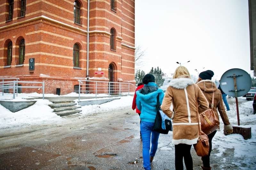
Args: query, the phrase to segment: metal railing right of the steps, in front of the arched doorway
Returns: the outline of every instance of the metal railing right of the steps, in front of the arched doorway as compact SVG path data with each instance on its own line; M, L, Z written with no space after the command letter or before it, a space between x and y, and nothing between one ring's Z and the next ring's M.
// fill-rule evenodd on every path
M80 100L80 94L95 94L95 98L99 94L119 95L126 96L130 95L130 88L134 88L132 83L125 82L112 82L112 81L91 81L91 80L78 80L78 99ZM85 83L83 83L85 82ZM135 91L135 89L134 89Z

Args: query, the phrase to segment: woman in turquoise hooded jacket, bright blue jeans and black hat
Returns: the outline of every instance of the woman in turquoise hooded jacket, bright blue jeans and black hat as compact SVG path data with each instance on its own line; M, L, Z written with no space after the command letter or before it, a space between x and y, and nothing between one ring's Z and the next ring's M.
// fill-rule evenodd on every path
M156 154L159 133L153 131L154 122L156 119L156 101L159 94L159 102L162 104L164 92L158 89L155 83L155 77L152 74L146 74L142 82L144 87L136 92L136 105L141 111L140 113L140 132L142 136L142 155L144 169L151 169L150 163ZM151 135L152 133L152 135ZM151 137L151 150L150 149Z

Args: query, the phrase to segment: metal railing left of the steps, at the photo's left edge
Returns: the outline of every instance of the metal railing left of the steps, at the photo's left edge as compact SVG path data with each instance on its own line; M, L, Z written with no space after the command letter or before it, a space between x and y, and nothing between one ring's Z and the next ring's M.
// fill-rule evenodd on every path
M4 90L13 89L13 99L15 99L15 91L17 91L18 96L18 88L42 88L43 89L43 99L44 99L44 81L4 81L5 84L0 84L0 90L3 92L4 96ZM18 86L18 83L32 83L32 84L42 84L42 86Z

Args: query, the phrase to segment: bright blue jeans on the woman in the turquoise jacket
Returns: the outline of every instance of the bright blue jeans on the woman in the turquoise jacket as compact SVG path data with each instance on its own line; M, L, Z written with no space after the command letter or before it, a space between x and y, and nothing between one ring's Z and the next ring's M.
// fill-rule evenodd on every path
M150 158L156 154L159 133L153 131L154 123L141 121L140 132L142 136L142 156L144 169L151 169ZM150 149L150 137L151 137L151 150Z

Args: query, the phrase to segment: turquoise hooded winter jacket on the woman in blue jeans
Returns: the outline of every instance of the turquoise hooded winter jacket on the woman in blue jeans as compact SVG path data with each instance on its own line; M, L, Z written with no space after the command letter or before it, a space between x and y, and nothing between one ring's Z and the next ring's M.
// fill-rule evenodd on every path
M136 105L141 111L140 119L146 122L155 122L156 119L156 101L159 94L159 103L162 104L164 92L158 89L156 83L149 82L144 84L144 87L136 92Z

